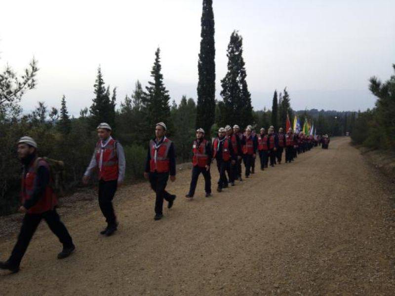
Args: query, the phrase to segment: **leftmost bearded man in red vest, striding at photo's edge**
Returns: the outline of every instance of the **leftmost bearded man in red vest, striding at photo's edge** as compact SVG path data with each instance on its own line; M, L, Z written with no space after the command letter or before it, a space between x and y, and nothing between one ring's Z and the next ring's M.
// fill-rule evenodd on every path
M19 271L19 265L42 219L63 244L58 259L69 257L76 247L66 226L60 221L56 212L56 194L51 187L52 176L49 164L37 155L37 143L30 137L18 141L18 157L23 165L22 205L19 212L24 213L22 227L11 256L0 262L0 269L12 273Z

